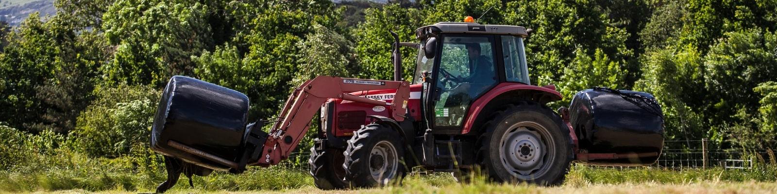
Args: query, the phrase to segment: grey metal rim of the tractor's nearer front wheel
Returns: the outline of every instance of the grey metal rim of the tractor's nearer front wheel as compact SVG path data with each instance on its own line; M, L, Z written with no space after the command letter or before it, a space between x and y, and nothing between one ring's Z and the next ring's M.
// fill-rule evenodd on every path
M391 142L382 140L372 147L370 174L378 183L385 185L394 178L398 164L396 148Z

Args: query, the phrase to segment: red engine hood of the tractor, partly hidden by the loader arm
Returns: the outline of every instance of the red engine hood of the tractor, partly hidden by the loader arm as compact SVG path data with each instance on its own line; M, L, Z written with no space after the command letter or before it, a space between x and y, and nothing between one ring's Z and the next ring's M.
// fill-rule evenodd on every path
M414 120L421 120L421 88L420 84L410 85L410 96L407 102L407 113ZM368 99L378 99L385 102L393 102L395 89L367 90L361 92L351 92L351 95L366 97ZM366 103L351 102L345 99L329 99L334 102L333 116L328 120L328 125L332 126L333 134L336 137L350 137L354 131L359 130L361 125L372 123L368 116L386 116L391 118L392 109L388 106L376 106ZM324 104L323 106L326 106ZM382 108L381 108L382 107ZM326 119L326 118L324 118Z

